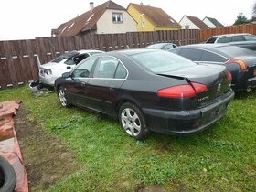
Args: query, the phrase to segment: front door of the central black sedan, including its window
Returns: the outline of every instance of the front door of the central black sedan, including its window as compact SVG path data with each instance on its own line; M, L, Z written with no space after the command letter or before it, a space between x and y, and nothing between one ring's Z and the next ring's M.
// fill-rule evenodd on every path
M73 69L70 80L66 86L66 92L73 104L88 107L88 81L91 77L92 67L97 58L85 59L80 65Z

